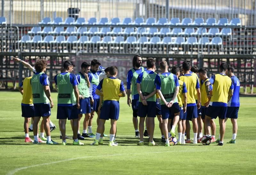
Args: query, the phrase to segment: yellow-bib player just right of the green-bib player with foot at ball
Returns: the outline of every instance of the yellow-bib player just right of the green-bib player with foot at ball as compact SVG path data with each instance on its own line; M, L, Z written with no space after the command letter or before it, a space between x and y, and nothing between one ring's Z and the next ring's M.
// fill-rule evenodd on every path
M182 67L181 67L182 68ZM174 66L172 68L172 73L176 75L177 78L180 76L180 68ZM186 84L179 80L180 88L177 95L178 103L180 106L180 120L178 122L178 144L185 144L185 131L186 131L186 113L187 111L187 87ZM173 115L173 114L172 114ZM174 116L174 115L173 115Z

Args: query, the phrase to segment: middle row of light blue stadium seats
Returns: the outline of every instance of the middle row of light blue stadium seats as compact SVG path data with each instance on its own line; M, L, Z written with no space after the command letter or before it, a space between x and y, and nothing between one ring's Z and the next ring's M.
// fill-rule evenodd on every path
M64 30L64 27L55 27L53 30L53 27L47 26L44 27L43 30L40 26L33 27L31 31L28 31L28 34L30 35L100 35L100 36L116 36L116 35L161 35L161 36L177 36L177 35L186 35L186 36L193 36L193 35L204 35L204 36L229 36L232 35L231 28L222 28L221 31L219 28L210 28L208 31L206 28L199 27L198 30L195 30L194 28L185 28L183 31L182 28L168 28L164 27L161 28L160 31L158 31L157 28L146 28L146 27L139 27L136 31L134 27L126 27L123 31L122 27L114 27L112 30L110 27L102 27L99 29L99 27L90 27L89 30L86 26L80 26L77 31L76 27L69 26Z

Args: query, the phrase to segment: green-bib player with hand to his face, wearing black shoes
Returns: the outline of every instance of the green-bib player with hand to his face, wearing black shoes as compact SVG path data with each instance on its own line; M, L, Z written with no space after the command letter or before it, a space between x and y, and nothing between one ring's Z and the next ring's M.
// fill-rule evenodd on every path
M78 114L78 130L77 130L77 138L79 140L84 140L84 137L92 137L87 133L87 127L89 124L89 120L91 118L91 104L90 104L90 80L88 77L88 72L91 69L91 64L88 62L83 62L81 64L81 71L76 74L78 91L79 91L79 103L80 109ZM92 75L91 75L92 78ZM85 115L84 123L83 123L83 134L81 136L79 128L80 128L80 120Z

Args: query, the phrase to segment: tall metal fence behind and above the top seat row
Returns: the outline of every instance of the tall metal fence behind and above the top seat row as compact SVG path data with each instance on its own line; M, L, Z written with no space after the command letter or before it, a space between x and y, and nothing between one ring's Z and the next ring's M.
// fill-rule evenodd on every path
M1 0L1 16L9 24L38 24L44 17L241 18L256 25L255 0ZM168 8L166 8L168 7ZM69 9L69 10L68 10Z

